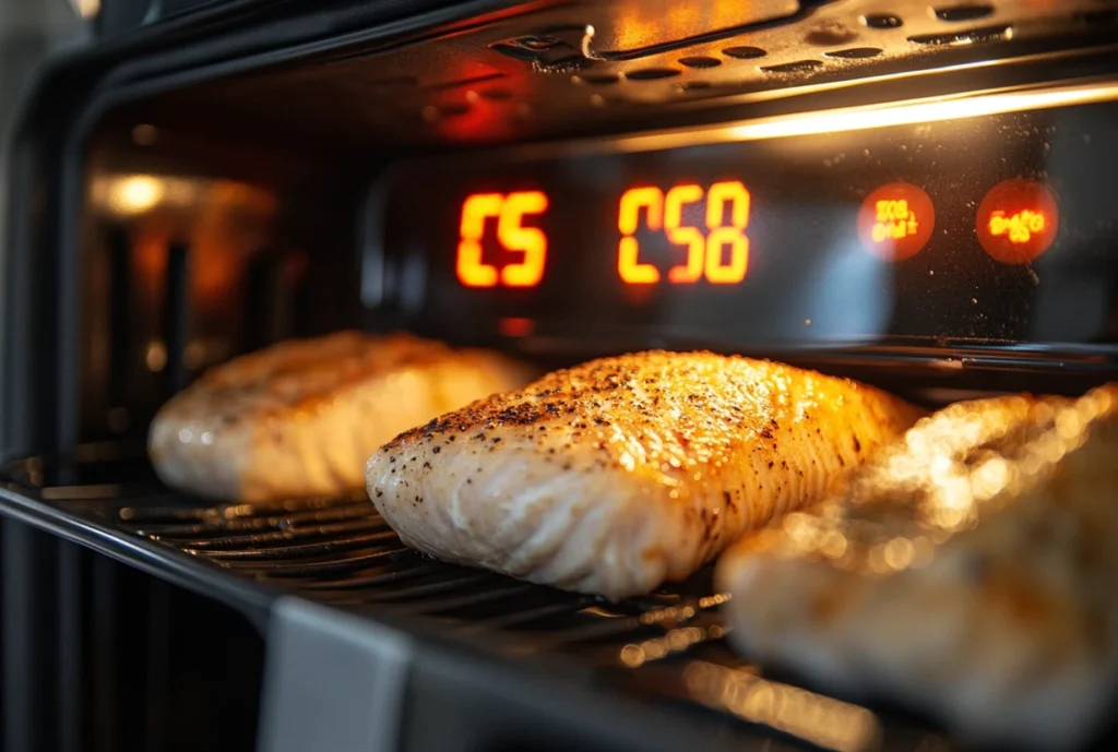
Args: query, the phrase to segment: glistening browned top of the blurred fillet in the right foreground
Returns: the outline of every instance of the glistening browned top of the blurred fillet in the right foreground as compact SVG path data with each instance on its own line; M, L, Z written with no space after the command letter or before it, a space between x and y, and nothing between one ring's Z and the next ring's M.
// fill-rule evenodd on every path
M949 406L880 450L841 494L787 515L749 546L879 577L927 567L937 546L1052 478L1099 421L1114 419L1116 402L1118 389L1103 387L1078 400Z

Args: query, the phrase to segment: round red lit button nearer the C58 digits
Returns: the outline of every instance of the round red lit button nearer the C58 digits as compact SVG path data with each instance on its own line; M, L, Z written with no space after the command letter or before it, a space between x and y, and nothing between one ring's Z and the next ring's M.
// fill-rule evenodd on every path
M889 183L862 201L858 237L870 251L889 261L916 256L936 228L931 199L911 183Z

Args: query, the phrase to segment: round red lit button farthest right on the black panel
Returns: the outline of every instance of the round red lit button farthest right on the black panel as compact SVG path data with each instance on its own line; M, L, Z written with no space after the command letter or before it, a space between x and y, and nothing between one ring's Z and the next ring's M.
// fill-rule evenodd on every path
M975 219L978 242L1003 264L1027 264L1043 254L1059 226L1052 192L1043 183L1021 178L989 189Z

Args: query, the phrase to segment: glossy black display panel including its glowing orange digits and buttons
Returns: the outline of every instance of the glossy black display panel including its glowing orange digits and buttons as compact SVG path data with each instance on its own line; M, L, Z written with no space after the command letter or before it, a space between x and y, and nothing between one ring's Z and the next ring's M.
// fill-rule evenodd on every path
M401 165L428 326L655 344L1115 340L1114 103ZM871 123L872 124L872 123ZM736 135L742 135L736 140Z

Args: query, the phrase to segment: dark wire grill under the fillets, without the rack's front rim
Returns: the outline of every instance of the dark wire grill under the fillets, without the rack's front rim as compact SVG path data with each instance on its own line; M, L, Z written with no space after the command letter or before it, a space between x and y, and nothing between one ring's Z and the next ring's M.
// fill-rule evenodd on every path
M225 574L372 619L423 619L508 658L698 714L726 733L851 752L954 749L922 721L762 677L724 639L727 597L713 591L710 568L610 602L419 554L362 497L211 504L169 493L150 468L115 451L94 455L66 484L51 482L46 463L12 476L125 542L143 539L179 562L196 560L203 579Z

